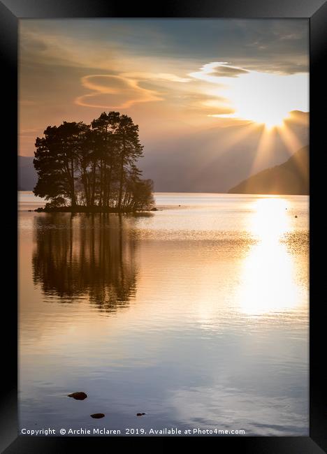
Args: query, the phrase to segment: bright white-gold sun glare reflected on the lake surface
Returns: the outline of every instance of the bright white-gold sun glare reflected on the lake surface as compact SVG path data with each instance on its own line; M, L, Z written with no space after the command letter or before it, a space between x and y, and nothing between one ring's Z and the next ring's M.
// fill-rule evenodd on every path
M245 258L238 295L240 312L249 316L290 311L306 300L293 256L283 242L291 228L287 208L282 198L254 202L249 230L257 243Z

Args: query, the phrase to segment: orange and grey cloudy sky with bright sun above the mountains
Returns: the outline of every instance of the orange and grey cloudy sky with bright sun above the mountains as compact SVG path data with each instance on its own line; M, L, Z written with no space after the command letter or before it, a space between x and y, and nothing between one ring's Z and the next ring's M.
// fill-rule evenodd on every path
M48 125L130 115L146 153L167 137L308 112L307 20L20 20L22 156Z

